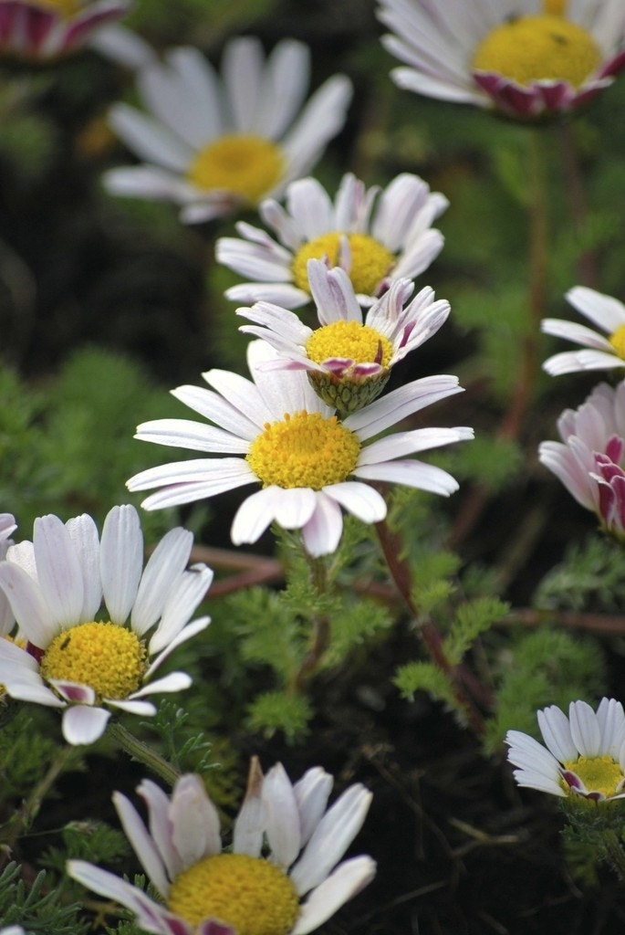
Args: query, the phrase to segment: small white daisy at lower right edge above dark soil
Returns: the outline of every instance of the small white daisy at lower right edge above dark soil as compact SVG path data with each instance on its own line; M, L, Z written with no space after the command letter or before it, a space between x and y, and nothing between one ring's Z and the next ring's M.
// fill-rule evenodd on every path
M625 714L620 701L602 698L594 712L572 701L569 716L556 705L537 712L547 749L519 730L505 742L517 783L552 796L625 798Z

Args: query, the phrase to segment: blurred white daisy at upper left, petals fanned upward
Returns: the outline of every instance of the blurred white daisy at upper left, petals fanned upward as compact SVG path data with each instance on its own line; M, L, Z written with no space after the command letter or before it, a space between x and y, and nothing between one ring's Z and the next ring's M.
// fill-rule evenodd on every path
M169 51L139 71L143 113L111 108L110 122L143 165L109 171L113 194L173 201L193 223L258 205L305 175L342 128L351 98L343 75L305 108L310 52L284 39L263 62L258 39L231 40L222 79L196 49Z

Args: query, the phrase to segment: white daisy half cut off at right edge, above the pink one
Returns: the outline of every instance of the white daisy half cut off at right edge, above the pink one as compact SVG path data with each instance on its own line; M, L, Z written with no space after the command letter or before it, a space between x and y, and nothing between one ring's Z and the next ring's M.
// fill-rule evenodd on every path
M549 357L543 367L552 377L579 370L607 370L625 367L625 305L611 295L603 295L587 286L575 286L566 298L592 324L606 334L599 334L584 324L546 318L542 329L547 335L566 338L584 346L584 351L565 351Z

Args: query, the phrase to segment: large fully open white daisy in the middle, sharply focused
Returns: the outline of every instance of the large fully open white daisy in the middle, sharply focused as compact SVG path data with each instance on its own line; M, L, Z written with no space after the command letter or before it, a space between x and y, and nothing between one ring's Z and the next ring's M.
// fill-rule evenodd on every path
M330 554L343 531L341 508L363 523L386 516L383 497L366 481L404 483L448 496L458 489L447 471L405 455L473 438L471 428L418 428L371 441L438 399L461 393L457 377L425 377L341 420L318 396L304 372L267 371L276 352L252 341L253 382L224 370L203 374L212 390L181 386L174 396L215 423L160 419L138 426L136 438L191 448L211 457L149 468L128 482L131 490L162 489L143 501L156 510L215 496L249 483L262 490L239 507L235 545L255 542L275 520L301 529L311 555Z

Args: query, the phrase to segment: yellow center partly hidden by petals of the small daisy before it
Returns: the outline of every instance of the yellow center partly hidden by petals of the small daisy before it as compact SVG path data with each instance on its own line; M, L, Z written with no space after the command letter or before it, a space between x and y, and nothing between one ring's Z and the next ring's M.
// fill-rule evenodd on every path
M362 295L374 295L380 280L395 265L395 255L368 234L347 234L351 248L351 269L349 278L354 292ZM309 240L295 254L291 264L293 281L300 289L310 292L308 286L308 260L320 260L327 256L330 266L338 265L338 252L341 242L340 232L323 234L315 240Z

